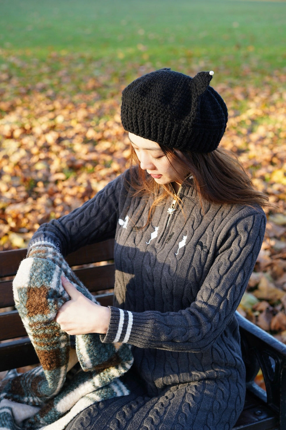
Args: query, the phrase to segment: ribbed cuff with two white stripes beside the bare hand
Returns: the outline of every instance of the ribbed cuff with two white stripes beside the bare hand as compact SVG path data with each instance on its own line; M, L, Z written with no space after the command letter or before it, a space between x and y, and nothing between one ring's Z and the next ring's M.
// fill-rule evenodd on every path
M109 306L109 309L110 322L106 335L100 335L101 341L104 343L128 342L133 325L132 312L113 306Z

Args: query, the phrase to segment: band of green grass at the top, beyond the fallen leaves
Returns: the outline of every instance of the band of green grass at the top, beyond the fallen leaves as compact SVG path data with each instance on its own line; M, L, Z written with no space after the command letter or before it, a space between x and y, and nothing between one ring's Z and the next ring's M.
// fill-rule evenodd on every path
M147 63L214 69L229 77L269 74L285 67L285 6L238 0L0 0L2 63L13 63L11 55L45 61L57 52L75 56L77 64L112 62L117 70ZM21 74L21 64L13 67Z

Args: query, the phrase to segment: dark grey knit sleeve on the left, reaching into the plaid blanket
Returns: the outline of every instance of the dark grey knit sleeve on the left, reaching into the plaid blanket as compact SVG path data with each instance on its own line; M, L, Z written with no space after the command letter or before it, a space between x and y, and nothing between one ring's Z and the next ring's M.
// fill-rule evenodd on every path
M35 244L49 243L67 255L81 246L114 237L123 194L126 187L124 175L120 175L69 215L42 224L28 249Z

